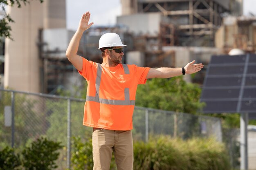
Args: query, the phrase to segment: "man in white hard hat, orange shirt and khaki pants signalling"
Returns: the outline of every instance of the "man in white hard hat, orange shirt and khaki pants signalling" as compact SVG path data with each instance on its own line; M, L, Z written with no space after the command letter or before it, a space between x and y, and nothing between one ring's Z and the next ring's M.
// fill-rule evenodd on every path
M192 74L200 71L203 65L193 61L184 68L155 69L121 64L126 45L116 33L106 33L99 40L103 62L88 61L76 53L83 32L93 24L88 24L89 20L90 12L84 13L66 56L88 82L83 125L93 127L93 169L109 170L114 152L117 169L132 170L131 129L137 85L145 84L150 78Z

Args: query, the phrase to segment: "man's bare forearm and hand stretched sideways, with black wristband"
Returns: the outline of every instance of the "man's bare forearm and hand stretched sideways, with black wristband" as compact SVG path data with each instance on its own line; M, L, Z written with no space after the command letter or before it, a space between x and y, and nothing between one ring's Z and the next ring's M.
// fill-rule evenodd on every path
M186 74L193 74L200 71L203 68L203 64L194 64L195 60L186 64L185 72ZM150 68L147 79L151 78L170 78L175 77L177 75L182 75L182 68L168 68L168 67L161 67L161 68Z

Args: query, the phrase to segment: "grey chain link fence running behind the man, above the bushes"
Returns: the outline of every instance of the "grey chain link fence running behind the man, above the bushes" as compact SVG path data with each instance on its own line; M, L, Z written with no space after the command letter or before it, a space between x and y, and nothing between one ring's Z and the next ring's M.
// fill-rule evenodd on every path
M0 149L22 148L39 137L61 141L58 169L70 167L72 137L90 139L92 128L82 125L85 100L55 95L0 90ZM215 137L222 141L220 119L135 107L133 139L153 135Z

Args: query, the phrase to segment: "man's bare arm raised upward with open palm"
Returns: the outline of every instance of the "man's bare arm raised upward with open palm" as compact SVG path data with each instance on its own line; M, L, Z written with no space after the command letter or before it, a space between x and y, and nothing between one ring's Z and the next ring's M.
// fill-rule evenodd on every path
M86 12L82 15L82 18L79 22L78 29L74 34L73 38L70 41L70 44L67 47L66 56L67 59L74 65L78 71L82 71L83 68L83 59L81 56L77 55L79 41L83 35L83 31L87 30L92 26L93 22L88 24L90 20L90 12Z

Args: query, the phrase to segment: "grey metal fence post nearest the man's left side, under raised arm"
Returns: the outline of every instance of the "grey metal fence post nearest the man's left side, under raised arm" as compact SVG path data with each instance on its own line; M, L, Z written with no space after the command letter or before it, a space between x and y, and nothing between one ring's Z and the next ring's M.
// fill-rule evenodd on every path
M71 109L70 98L67 99L67 168L70 170L70 136L71 136Z

